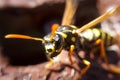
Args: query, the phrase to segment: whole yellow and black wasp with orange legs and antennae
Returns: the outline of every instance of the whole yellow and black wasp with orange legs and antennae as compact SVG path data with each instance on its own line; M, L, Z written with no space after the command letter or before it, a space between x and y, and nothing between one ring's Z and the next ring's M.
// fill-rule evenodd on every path
M92 28L111 15L119 12L120 6L109 10L81 28L77 28L76 26L71 25L73 16L77 9L77 3L78 2L76 0L67 0L61 26L54 24L52 26L51 33L44 36L43 38L36 38L20 34L8 34L5 36L5 38L20 38L41 41L50 64L53 62L52 58L60 54L63 49L68 50L68 58L72 64L73 61L71 56L73 52L78 55L80 50L91 52L93 49L98 47L101 51L101 57L110 68L110 71L120 74L120 69L111 68L109 66L109 62L105 53L105 49L113 45L116 42L116 39L100 29ZM80 74L83 75L89 69L91 63L87 59L83 59L79 56L78 58L86 65Z

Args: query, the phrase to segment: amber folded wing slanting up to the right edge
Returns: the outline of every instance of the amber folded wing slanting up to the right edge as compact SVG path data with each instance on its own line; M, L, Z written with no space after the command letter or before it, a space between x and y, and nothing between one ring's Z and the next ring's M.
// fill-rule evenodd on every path
M100 17L94 19L93 21L89 22L88 24L82 26L81 28L77 29L77 33L83 32L86 29L89 29L93 26L95 26L96 24L102 22L103 20L107 19L108 17L112 16L113 14L116 14L120 12L120 6L113 8L109 11L107 11L106 13L104 13L103 15L101 15Z

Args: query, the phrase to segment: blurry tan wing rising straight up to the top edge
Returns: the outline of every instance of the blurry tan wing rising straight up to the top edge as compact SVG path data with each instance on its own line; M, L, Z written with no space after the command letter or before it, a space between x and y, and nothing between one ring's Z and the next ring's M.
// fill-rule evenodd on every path
M62 25L70 25L73 22L74 14L78 7L79 0L66 0Z

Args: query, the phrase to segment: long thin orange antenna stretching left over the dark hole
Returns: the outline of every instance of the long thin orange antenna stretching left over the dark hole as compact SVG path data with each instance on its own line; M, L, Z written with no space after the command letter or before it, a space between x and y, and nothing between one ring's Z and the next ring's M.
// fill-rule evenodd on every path
M41 38L34 38L34 37L31 37L31 36L20 35L20 34L8 34L8 35L5 36L5 38L31 39L31 40L38 40L38 41L44 42L44 40L41 39Z

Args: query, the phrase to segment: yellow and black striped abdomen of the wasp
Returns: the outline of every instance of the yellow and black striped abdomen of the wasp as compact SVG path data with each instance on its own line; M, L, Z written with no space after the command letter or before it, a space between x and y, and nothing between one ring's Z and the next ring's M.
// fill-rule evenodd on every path
M81 36L81 43L86 44L86 46L92 45L98 40L101 39L104 41L104 46L108 47L111 46L114 43L113 37L110 36L109 34L103 32L100 29L93 28L93 29L88 29L85 32L80 34Z

